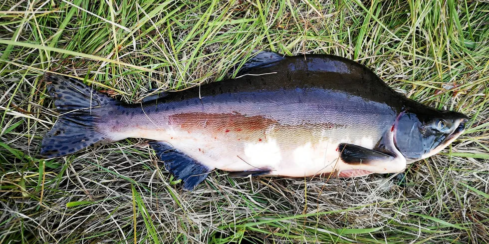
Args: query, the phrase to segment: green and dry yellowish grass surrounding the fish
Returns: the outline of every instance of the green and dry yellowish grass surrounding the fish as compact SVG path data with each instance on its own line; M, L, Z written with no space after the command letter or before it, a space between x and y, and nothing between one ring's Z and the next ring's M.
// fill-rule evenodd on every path
M0 243L489 243L487 2L90 2L0 3ZM135 103L220 80L253 48L355 59L470 128L406 187L217 172L189 193L137 139L39 160L44 71Z

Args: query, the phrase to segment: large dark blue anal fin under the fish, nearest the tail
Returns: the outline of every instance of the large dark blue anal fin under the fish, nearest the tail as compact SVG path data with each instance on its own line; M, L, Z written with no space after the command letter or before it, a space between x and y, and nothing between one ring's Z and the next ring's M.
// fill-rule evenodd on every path
M156 151L158 158L164 162L166 170L171 172L177 180L184 182L185 190L194 190L213 170L165 142L150 142L149 144Z

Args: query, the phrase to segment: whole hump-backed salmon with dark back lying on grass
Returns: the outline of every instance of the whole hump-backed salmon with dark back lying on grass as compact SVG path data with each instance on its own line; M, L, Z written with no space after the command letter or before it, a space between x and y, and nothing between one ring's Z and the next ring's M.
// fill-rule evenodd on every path
M145 138L165 169L192 191L216 169L230 177L403 172L450 145L469 120L405 97L347 58L253 55L235 69L236 78L135 104L47 72L47 91L60 115L40 155Z

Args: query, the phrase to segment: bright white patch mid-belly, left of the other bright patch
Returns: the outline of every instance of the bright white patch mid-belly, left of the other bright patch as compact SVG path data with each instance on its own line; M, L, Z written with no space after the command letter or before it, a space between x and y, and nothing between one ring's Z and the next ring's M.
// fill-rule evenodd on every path
M257 168L276 168L282 161L280 147L275 139L245 144L246 162Z

